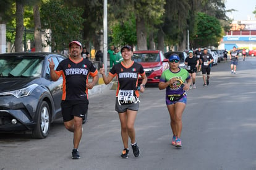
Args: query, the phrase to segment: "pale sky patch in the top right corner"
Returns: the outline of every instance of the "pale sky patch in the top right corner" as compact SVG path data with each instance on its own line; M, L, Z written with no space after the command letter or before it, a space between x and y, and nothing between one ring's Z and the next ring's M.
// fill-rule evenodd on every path
M247 15L250 15L252 20L256 20L255 15L252 14L255 11L255 0L225 0L226 10L236 9L234 12L227 12L226 15L234 20L247 20Z

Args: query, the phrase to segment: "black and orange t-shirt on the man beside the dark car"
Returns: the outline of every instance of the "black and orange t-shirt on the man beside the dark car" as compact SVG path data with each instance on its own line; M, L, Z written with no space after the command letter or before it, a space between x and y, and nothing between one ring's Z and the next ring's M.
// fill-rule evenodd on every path
M74 62L67 58L59 63L56 74L63 77L62 100L85 100L88 99L88 74L94 77L98 70L88 59Z

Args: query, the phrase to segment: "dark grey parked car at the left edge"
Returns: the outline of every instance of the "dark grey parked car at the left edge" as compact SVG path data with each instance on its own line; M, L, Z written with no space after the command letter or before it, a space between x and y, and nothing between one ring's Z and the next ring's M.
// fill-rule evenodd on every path
M33 138L45 138L51 122L62 117L62 77L51 80L49 58L57 67L66 57L54 53L0 54L0 132L29 131Z

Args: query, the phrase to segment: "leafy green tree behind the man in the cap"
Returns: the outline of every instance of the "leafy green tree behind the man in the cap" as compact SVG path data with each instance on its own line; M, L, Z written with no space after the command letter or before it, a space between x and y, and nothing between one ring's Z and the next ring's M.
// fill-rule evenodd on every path
M64 6L63 1L48 1L42 4L41 24L43 29L51 30L51 34L45 33L45 37L46 44L51 46L53 51L67 48L71 40L82 41L82 13L83 9Z

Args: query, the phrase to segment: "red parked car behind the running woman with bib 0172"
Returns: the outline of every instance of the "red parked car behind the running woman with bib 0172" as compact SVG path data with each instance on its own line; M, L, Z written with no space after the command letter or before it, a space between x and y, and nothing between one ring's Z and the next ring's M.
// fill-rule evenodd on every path
M168 62L163 62L166 58L160 50L134 51L132 59L143 66L148 78L147 83L159 83L161 74L169 68Z

